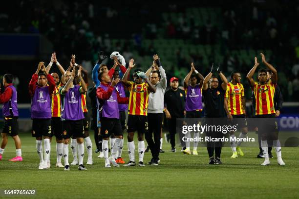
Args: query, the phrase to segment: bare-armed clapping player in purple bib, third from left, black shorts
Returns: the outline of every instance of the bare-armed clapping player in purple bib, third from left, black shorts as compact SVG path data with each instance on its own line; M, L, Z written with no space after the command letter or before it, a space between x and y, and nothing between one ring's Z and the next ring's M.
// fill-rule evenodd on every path
M82 95L87 91L87 86L85 81L81 76L80 67L78 70L78 78L81 81L80 85L74 85L73 80L76 76L75 67L73 67L72 72L65 71L64 79L66 81L65 86L61 87L59 92L63 97L62 103L62 116L63 121L63 138L64 138L64 171L69 171L70 166L68 163L68 142L70 137L74 136L78 143L78 170L87 170L83 165L84 158L84 126L83 119L84 114L82 110Z

